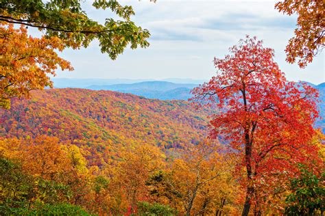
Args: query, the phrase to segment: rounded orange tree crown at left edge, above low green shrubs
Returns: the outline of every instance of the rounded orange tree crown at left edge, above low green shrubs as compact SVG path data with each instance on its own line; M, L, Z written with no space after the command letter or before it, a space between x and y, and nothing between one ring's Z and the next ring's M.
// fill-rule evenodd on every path
M35 139L3 139L1 156L21 163L23 171L46 180L69 180L71 160L56 137L41 135Z

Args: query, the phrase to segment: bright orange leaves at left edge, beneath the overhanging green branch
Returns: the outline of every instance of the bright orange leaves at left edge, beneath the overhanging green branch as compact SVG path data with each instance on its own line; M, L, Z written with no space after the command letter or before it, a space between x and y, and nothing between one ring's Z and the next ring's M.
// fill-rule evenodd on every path
M58 57L55 50L64 46L58 38L33 38L21 26L0 22L0 108L10 108L10 98L29 97L30 90L53 87L48 75L72 70L70 63Z

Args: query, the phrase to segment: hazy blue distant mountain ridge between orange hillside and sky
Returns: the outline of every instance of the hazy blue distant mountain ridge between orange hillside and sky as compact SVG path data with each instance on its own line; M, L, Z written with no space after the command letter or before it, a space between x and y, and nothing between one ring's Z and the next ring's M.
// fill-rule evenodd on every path
M91 90L111 90L122 93L130 93L145 98L160 100L187 100L191 98L190 91L198 84L171 83L167 81L145 81L132 84L117 85L92 85L87 87Z

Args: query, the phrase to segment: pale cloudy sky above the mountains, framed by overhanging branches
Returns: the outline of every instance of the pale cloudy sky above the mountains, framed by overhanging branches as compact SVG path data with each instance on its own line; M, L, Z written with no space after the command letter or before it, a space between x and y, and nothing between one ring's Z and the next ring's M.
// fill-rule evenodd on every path
M61 54L75 70L58 71L56 78L73 79L205 79L215 75L213 58L245 35L257 36L275 51L275 61L290 81L325 82L324 52L303 70L285 62L285 46L296 28L296 16L274 9L276 1L119 1L132 5L132 21L149 29L147 49L126 49L116 60L102 54L96 41L87 49L66 49ZM112 12L83 7L88 16L104 22Z

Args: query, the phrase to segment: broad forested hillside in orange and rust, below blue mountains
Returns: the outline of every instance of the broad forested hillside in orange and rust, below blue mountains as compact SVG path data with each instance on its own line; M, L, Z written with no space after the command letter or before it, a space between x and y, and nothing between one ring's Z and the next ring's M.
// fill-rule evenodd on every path
M33 92L31 100L15 98L10 110L0 110L0 137L53 135L81 146L98 165L118 157L121 148L144 142L166 152L196 144L206 137L207 115L207 110L195 111L185 101L110 91L45 90Z

